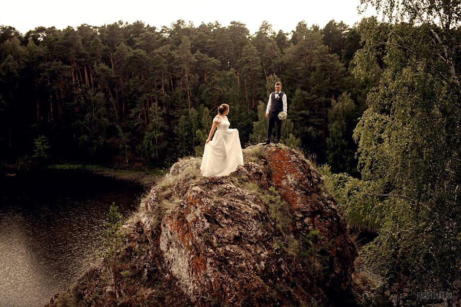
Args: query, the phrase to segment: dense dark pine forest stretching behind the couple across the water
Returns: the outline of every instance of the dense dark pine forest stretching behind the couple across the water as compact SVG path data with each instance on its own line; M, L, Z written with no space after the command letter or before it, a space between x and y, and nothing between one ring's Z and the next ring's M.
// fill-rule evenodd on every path
M267 119L259 118L258 103L282 81L284 143L325 161L331 99L347 87L361 106L354 117L363 112L364 84L344 78L340 62L358 48L353 30L334 21L325 29L300 23L289 41L266 21L253 36L235 21L194 27L178 20L162 29L118 21L37 27L24 36L3 26L0 158L32 155L33 139L44 135L54 159L103 164L119 156L127 164L168 166L202 155L209 127L201 105L213 114L221 103L230 105L242 144L259 143L266 128L253 129L253 122ZM306 93L301 103L298 88Z

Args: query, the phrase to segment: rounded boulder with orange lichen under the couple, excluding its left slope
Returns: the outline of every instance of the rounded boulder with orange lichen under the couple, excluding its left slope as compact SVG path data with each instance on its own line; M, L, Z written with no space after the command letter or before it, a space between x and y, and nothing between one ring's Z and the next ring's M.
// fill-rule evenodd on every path
M245 166L221 178L197 176L199 159L178 162L166 179L172 184L154 187L146 199L144 206L157 215L163 202L172 204L162 218L159 248L179 287L205 305L210 298L237 305L296 303L314 284L318 300L344 299L356 249L316 170L291 149L252 146L244 157ZM264 198L270 187L285 206L279 208L283 216L274 215ZM312 272L312 257L302 256L303 239L314 228L325 237L323 245L331 242L327 263L319 264L329 267L323 272Z

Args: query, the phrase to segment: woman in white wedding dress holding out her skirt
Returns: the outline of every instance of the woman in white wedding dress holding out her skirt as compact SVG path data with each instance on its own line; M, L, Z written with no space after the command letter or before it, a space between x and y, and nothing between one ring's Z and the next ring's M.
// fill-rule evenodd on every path
M218 114L213 119L210 135L205 144L202 165L200 169L203 176L227 176L243 165L242 146L237 129L229 129L230 122L227 119L229 105L223 103L218 107ZM214 129L213 141L210 141Z

